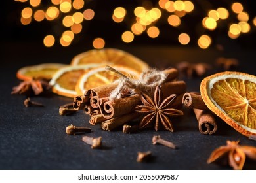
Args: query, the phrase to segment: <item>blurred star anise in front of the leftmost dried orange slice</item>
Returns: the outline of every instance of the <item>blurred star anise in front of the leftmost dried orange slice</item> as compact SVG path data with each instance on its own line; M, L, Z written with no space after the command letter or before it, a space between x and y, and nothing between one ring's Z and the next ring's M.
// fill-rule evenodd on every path
M11 94L39 95L49 89L51 89L51 85L44 80L25 80L18 86L14 86Z

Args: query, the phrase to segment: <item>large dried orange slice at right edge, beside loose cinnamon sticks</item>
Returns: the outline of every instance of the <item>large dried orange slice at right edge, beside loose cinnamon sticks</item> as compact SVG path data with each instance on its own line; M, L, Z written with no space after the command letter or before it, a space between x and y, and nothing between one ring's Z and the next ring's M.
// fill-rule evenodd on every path
M200 92L207 107L245 136L256 135L256 76L217 73L204 78Z

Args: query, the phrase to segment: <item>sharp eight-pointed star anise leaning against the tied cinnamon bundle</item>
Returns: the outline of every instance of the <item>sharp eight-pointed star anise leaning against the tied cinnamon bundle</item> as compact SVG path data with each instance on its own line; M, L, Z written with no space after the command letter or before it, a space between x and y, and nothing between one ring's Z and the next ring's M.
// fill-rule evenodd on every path
M173 124L169 117L181 116L183 112L175 108L171 108L171 105L176 99L176 95L172 94L169 97L162 99L162 92L160 86L156 87L154 92L154 99L151 99L148 95L142 94L140 97L143 105L135 107L135 111L144 115L144 118L140 121L139 128L143 129L154 125L156 131L161 127L173 132Z

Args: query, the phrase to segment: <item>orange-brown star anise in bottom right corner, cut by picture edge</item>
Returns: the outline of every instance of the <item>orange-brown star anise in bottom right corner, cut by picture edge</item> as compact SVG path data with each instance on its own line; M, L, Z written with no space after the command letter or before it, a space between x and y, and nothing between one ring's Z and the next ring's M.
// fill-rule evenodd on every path
M228 156L228 164L235 170L242 170L246 156L256 160L256 147L240 146L239 141L226 141L226 146L220 146L213 150L207 163L212 163L217 159Z

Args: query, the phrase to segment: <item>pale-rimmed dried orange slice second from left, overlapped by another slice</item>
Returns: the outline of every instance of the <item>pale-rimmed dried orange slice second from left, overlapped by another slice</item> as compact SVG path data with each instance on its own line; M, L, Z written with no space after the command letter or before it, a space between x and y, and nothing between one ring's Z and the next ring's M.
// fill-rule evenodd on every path
M52 90L58 95L66 97L76 97L77 92L75 91L75 85L79 80L80 76L84 73L98 67L97 64L87 65L70 65L59 69L50 80L49 84L53 86Z

